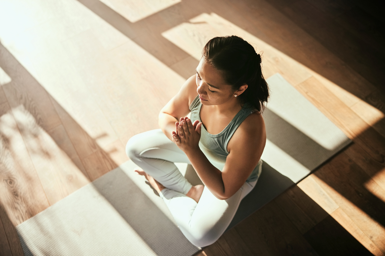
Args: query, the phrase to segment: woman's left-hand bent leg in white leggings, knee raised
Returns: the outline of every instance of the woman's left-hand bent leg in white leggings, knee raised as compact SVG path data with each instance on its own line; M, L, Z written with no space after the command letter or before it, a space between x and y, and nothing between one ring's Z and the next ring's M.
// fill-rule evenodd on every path
M174 162L191 164L177 145L161 129L134 135L126 145L128 157L164 187L186 195L192 185Z

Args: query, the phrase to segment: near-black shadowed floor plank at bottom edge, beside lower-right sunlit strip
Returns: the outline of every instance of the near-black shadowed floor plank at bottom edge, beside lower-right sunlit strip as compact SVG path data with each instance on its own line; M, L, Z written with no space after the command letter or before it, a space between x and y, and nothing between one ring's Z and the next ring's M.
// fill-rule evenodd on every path
M320 255L373 255L331 216L303 236Z

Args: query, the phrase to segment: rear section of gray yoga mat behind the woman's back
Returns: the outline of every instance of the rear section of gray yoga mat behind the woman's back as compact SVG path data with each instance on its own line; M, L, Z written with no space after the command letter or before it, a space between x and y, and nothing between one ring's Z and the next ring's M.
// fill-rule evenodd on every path
M261 177L228 230L352 142L280 74L266 81L270 98L263 112L267 140Z

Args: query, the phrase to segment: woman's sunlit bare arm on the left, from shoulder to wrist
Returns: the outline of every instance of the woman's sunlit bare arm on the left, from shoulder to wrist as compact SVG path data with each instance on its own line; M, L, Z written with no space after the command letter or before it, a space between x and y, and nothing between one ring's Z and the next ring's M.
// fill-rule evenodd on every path
M172 140L171 134L176 128L175 122L179 122L181 117L187 116L190 112L191 102L198 95L195 78L196 75L187 79L179 92L172 97L159 113L159 127L170 140Z

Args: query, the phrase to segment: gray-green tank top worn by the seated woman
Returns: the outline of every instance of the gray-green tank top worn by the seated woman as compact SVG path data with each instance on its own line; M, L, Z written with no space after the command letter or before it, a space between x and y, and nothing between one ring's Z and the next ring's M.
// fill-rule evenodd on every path
M200 112L201 112L202 104L199 101L199 96L196 96L194 101L192 101L189 109L191 111L191 121L195 120L201 121ZM238 126L243 122L249 114L257 111L251 104L246 102L243 105L243 108L235 115L233 120L223 129L223 131L218 134L210 134L207 130L202 126L201 130L201 139L199 140L199 147L202 150L203 154L206 155L207 159L220 171L223 170L224 164L226 162L226 157L229 154L227 151L227 144L233 136L235 130ZM251 172L250 176L247 178L246 182L253 182L258 179L259 174L261 173L262 160L259 159L258 164L254 168L253 172Z

